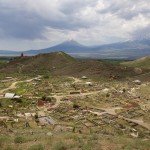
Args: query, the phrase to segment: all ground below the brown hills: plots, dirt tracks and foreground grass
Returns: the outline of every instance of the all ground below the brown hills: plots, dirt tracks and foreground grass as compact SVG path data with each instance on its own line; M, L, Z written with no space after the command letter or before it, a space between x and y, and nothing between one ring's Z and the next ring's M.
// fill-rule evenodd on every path
M0 77L2 149L149 149L150 82L9 75Z

